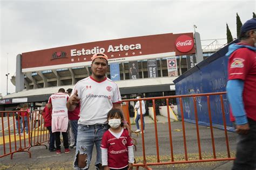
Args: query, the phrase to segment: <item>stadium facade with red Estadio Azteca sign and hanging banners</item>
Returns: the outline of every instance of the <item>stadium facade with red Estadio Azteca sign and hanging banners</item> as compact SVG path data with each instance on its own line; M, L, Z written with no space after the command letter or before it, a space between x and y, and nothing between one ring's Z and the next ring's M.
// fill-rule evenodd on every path
M106 76L116 81L123 99L137 93L145 97L175 95L173 80L203 60L196 33L165 33L24 52L17 55L16 76L11 79L16 92L0 100L0 110L19 103L35 107L60 87L72 88L91 75L91 57L97 52L109 57Z

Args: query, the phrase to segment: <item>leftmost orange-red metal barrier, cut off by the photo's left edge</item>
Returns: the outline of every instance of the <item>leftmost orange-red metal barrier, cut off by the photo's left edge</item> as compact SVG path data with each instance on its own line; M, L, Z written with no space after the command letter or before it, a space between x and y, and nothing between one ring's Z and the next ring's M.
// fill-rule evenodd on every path
M31 152L25 150L30 147L30 138L26 136L25 128L23 128L23 131L21 131L21 127L24 127L25 125L24 119L26 118L28 120L28 133L30 133L29 113L26 112L26 115L24 115L22 114L22 112L24 111L0 111L2 118L2 136L0 137L0 158L5 157L7 155L11 155L12 159L12 155L17 152L28 152L29 157L31 158ZM4 117L4 114L7 114L7 116ZM18 118L18 121L16 121L16 116ZM4 121L4 119L6 120ZM10 125L10 121L13 122L12 125ZM15 128L16 122L18 123L17 133ZM18 138L16 138L16 135L18 135ZM17 146L17 142L19 142L19 146Z

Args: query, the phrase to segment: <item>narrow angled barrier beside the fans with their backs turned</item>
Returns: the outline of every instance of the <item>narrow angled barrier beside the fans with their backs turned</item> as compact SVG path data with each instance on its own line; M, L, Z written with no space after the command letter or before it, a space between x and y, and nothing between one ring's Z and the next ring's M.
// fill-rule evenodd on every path
M43 110L35 110L31 114L31 143L29 149L33 146L45 146L47 149L47 146L43 143L49 141L49 132L44 126L42 113Z

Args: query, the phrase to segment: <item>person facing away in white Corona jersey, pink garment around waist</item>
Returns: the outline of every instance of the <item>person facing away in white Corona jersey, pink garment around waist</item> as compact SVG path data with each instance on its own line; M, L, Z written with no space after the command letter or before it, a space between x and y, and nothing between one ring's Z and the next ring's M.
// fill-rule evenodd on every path
M55 135L56 153L60 154L60 132L62 132L63 145L65 153L69 153L69 139L68 139L68 109L66 103L69 95L65 93L64 89L59 89L58 93L52 94L48 101L48 108L52 107L51 130Z

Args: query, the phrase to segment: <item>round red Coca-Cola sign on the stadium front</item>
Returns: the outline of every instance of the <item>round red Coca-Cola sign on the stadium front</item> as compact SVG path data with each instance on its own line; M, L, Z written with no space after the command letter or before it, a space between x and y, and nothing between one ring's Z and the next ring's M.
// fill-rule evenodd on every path
M182 35L176 39L175 46L180 52L188 52L193 49L194 40L190 36Z

